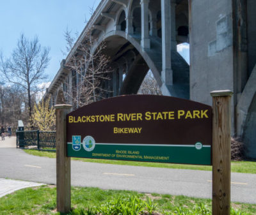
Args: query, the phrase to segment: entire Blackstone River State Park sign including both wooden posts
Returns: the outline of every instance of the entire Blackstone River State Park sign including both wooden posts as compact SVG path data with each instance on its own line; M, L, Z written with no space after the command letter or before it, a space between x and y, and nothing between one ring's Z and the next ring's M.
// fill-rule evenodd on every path
M152 95L118 96L71 113L71 105L55 105L57 211L71 209L70 157L77 157L212 165L212 215L230 215L232 92L211 96L212 107Z

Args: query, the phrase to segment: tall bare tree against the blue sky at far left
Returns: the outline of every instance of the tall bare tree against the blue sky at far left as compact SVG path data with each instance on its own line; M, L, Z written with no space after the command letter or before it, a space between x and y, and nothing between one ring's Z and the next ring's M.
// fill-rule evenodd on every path
M44 71L49 61L49 48L41 47L37 36L28 40L24 34L20 35L10 58L4 59L1 54L0 70L8 82L19 85L26 94L29 117L32 113L32 100L38 91L37 85L46 78Z

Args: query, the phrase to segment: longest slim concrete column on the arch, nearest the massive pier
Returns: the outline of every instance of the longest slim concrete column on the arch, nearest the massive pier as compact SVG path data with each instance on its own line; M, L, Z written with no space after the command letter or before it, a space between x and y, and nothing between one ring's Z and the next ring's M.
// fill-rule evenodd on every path
M173 4L172 4L173 6ZM172 43L170 38L172 38L172 20L171 20L171 1L161 0L161 17L162 17L162 61L163 70L162 78L166 85L173 84L173 72L172 72L172 62L171 62L171 49Z

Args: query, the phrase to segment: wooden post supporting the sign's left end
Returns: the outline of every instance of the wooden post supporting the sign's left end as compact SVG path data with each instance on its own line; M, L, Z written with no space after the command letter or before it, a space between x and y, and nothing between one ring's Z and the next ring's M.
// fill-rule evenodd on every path
M71 105L55 105L56 108L56 175L57 211L71 209L70 158L67 158L66 115Z

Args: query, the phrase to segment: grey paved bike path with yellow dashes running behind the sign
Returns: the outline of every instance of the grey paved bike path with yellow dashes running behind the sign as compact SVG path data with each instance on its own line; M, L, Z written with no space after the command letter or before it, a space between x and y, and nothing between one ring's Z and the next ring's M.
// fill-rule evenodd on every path
M1 144L1 142L0 142ZM56 184L56 159L0 148L0 178ZM232 202L256 204L256 174L232 173ZM211 172L71 162L72 186L211 198Z

